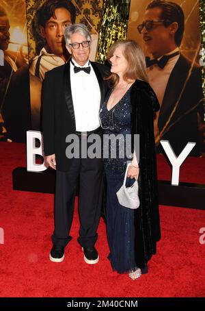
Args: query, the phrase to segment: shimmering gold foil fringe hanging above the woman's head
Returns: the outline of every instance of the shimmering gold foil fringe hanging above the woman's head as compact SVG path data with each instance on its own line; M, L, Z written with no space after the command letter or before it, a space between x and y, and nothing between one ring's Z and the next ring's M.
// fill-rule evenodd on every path
M104 0L97 62L104 63L113 42L126 40L131 0Z

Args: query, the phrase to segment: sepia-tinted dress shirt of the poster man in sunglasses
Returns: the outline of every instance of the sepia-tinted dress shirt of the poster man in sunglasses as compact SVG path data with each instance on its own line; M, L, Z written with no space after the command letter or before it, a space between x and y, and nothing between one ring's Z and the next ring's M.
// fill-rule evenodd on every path
M177 47L174 49L174 51L171 51L165 55L170 55L173 53L176 53L179 51L179 48ZM162 57L162 56L161 56ZM169 77L172 73L172 70L174 69L174 66L176 65L176 62L178 61L180 55L176 55L173 58L169 58L167 64L163 69L161 69L157 64L154 64L153 66L150 66L147 69L148 73L148 79L150 82L150 86L152 86L154 92L156 93L156 96L159 100L159 104L161 106L163 102L163 97L165 95L165 90L167 88L167 83L169 81ZM158 58L160 60L161 58ZM154 134L155 137L157 134L159 134L159 129L158 129L158 119L159 119L159 112L156 112L156 117L154 119Z

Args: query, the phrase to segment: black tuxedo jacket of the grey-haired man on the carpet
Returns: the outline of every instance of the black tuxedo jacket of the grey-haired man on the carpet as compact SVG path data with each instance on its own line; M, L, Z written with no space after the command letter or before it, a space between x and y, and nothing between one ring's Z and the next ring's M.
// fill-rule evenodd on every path
M107 67L96 62L90 62L100 86L102 105L107 86L104 81ZM82 103L83 104L83 103ZM42 129L44 136L44 154L55 153L57 169L68 171L72 159L66 158L66 136L76 132L74 107L70 86L70 62L59 66L45 75L43 85Z

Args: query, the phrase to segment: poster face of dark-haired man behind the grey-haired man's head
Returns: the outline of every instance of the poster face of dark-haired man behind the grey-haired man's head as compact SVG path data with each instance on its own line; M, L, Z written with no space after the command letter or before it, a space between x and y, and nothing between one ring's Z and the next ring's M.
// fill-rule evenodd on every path
M46 39L46 50L49 53L61 56L66 51L66 43L64 40L65 27L71 25L71 14L66 8L58 8L55 10L55 16L46 21L45 27L40 26L40 32Z

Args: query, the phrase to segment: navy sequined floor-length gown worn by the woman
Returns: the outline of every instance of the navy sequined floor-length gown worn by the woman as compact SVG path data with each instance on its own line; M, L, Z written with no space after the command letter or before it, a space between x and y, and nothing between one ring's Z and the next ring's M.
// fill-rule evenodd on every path
M124 180L127 161L131 161L131 154L121 158L122 155L118 149L120 141L125 137L130 138L126 135L131 134L130 92L131 88L111 110L107 110L108 96L100 110L103 134L114 134L115 136L121 134L119 143L116 144L116 158L111 158L111 151L115 149L111 144L109 144L109 158L104 158L107 177L107 238L110 249L108 258L113 270L118 273L128 273L136 268L134 210L121 206L116 195ZM126 142L131 144L131 140ZM134 179L129 178L126 185L131 186L133 182Z

